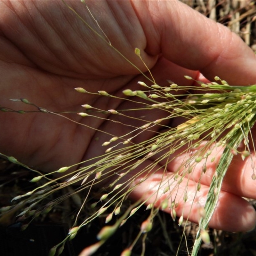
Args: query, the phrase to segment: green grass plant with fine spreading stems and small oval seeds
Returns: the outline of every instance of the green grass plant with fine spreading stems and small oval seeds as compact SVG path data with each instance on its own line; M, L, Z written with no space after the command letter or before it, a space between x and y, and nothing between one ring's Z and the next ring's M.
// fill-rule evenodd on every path
M70 7L67 6L67 8ZM71 8L70 10L75 12ZM90 12L90 10L88 11ZM77 13L76 15L78 19L83 20ZM89 26L84 20L83 22L85 26ZM104 32L101 32L98 36L109 47L117 51L111 45ZM136 48L134 54L141 59L139 49ZM120 58L124 58L122 53L120 53ZM192 79L189 76L186 78ZM95 93L86 91L83 88L75 88L75 90L77 93L98 94L100 97L116 98L115 95L111 95L108 91ZM196 197L196 193L200 191L200 180L207 172L207 165L212 163L216 165L216 172L212 178L206 204L201 209L201 219L199 220L194 247L192 252L190 248L187 248L189 255L197 255L202 240L205 244L210 243L207 228L216 207L222 181L230 162L235 155L240 155L242 159L245 159L251 157L250 152L256 153L251 134L251 129L256 122L256 85L230 86L226 81L215 77L215 81L210 84L198 82L198 92L200 93L190 94L189 92L193 90L194 87L192 86L184 87L172 82L170 82L169 86L162 86L157 84L154 77L150 76L147 83L138 81L137 90L127 89L123 91L123 99L138 104L140 106L138 109L98 109L84 104L81 107L81 112L74 113L74 115L78 114L84 118L88 116L104 118L95 115L95 113L101 112L106 113L106 120L109 113L111 115L125 116L129 119L133 118L129 115L130 111L144 109L148 112L151 110L163 111L165 117L152 122L140 118L143 125L132 126L132 132L121 136L116 136L114 132L113 134L108 134L110 139L102 144L102 147L106 148L103 155L77 163L74 166L64 166L51 173L41 173L20 163L12 156L1 154L12 163L20 164L35 172L36 176L30 181L38 184L33 190L14 197L11 206L1 208L1 220L17 211L18 216L31 219L31 216L50 212L68 197L75 197L85 191L86 196L81 202L79 201L81 198L78 198L80 209L76 213L76 218L66 239L53 247L50 255L60 255L66 241L73 239L82 227L103 216L106 225L97 235L98 242L86 247L81 253L81 255L91 255L106 243L120 226L125 225L125 222L136 214L140 207L147 204L147 200L153 198L154 203L148 204L146 208L148 217L140 223L140 231L137 237L132 243L127 244L127 248L122 253L122 255L131 255L132 249L139 238L141 238L141 241L145 241L159 210L169 208L172 219L177 219L175 209L179 207L179 204L185 205L188 199L187 189L182 191L182 196L178 193L180 183L184 178L193 177L194 173L200 169L200 174L197 175L198 183L195 183L197 184L195 188ZM38 114L61 116L69 119L70 122L75 122L65 115L66 113L71 113L68 110L67 112L56 113L37 106L36 103L29 102L29 99L19 99L19 101L33 106L35 108L33 112L38 112ZM4 106L1 106L0 110L16 112L17 114L26 114L28 112L17 111ZM182 118L184 122L177 127L170 127L168 120L172 118ZM80 125L83 126L84 124ZM129 123L124 125L131 126ZM156 132L153 138L138 144L132 142L144 132L154 130L155 126L161 127L163 132ZM86 128L88 127L86 126ZM177 172L166 180L164 175L167 175L167 165L174 160L174 152L178 152L178 156L186 155L189 157L184 159ZM222 152L219 160L215 159L215 155L218 152ZM152 156L156 156L157 160L141 168L135 176L129 176L129 173L134 168L142 165ZM93 164L91 164L91 160L93 160ZM70 169L73 170L74 167L76 167L76 170L70 174L68 171ZM157 172L159 168L164 168L165 172L163 173L163 179L159 182L157 192L147 200L138 200L131 205L127 204L127 197L132 190L140 182L150 177L152 173ZM256 174L253 161L252 169L252 179L255 180ZM57 176L55 174L61 175ZM126 176L128 178L125 179L125 182L122 182ZM113 179L114 181L111 184L108 184L107 180L110 177L116 178ZM70 189L73 184L79 184L79 186ZM97 193L95 193L95 188L98 190ZM101 188L100 191L99 188ZM54 196L60 190L69 192L65 192L61 196ZM44 200L51 195L53 195L54 199L44 204ZM163 195L165 200L158 204L157 202L163 198ZM88 213L82 217L80 215L85 207ZM114 223L113 220L115 220ZM183 215L177 221L179 226L184 227L188 222ZM186 240L185 228L182 236L181 241L182 239ZM142 249L141 255L145 255L145 247L142 246L142 248L144 249ZM177 255L178 253L179 251Z

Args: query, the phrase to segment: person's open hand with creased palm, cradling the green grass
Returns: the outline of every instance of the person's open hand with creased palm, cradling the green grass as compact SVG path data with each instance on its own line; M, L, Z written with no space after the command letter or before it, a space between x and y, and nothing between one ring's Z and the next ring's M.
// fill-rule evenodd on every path
M80 0L66 3L101 32ZM167 85L166 80L170 79L177 84L191 85L191 80L186 80L184 75L200 80L213 80L214 76L219 76L231 85L256 83L256 59L251 49L228 28L179 1L113 0L86 3L111 44L145 72L145 67L134 54L135 47L140 49L141 57L158 84ZM138 81L148 81L86 27L62 1L6 0L0 2L0 9L1 106L30 110L31 106L9 100L26 98L50 111L81 112L82 104L106 110L136 107L130 102L79 94L74 90L75 87L83 87L90 92L105 90L121 96L124 89L140 89ZM145 118L152 121L163 114L150 112L148 115L134 111L130 115L146 115ZM69 117L117 136L130 131L127 126L111 121L91 117L82 119L74 114ZM100 145L109 140L104 133L58 116L1 112L0 118L0 152L46 172L103 153L106 148ZM109 119L131 122L119 116L109 116ZM178 121L172 120L173 125L175 122ZM135 124L140 125L138 122ZM154 133L148 132L140 140L152 136ZM96 137L100 139L96 141ZM216 155L218 159L221 149ZM169 164L170 175L184 157L177 157ZM154 159L143 164L150 161ZM131 177L138 171L133 170ZM190 212L189 202L192 203L196 189L196 173L197 170L195 177L188 182L188 201L184 206L184 218L189 215L192 221L198 221L198 205L204 205L214 168L209 168L209 172L203 176L196 203ZM147 198L149 191L158 188L162 175L163 171L158 170L140 183L131 198ZM251 175L251 164L247 160L243 162L241 157L235 158L224 179L211 227L229 231L254 228L255 211L241 198L256 198L256 183ZM165 174L165 178L167 176ZM185 186L187 181L184 179L178 194L182 194ZM153 202L154 198L151 200ZM182 206L180 202L177 215L182 213Z

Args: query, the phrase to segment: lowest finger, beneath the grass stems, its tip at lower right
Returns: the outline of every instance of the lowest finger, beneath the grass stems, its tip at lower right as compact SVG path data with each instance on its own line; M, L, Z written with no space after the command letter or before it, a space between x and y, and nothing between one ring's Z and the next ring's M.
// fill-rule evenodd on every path
M165 173L163 175L163 170L158 169L158 167L155 168L156 172L152 173L143 182L139 178L136 179L134 182L136 186L130 196L135 200L145 200L146 204L154 204L160 209L162 203L168 200L168 207L164 211L169 213L171 213L170 206L175 201L177 207L174 207L174 209L177 216L182 215L184 220L188 218L190 221L198 222L202 216L201 212L205 205L209 187L202 185L200 190L197 191L197 183L187 179L183 179L179 186L175 186L172 174ZM136 173L136 170L134 172ZM129 175L132 176L132 173ZM166 192L167 184L170 184L170 186ZM185 193L187 194L186 202L184 202ZM241 197L221 191L209 227L231 232L248 231L255 227L255 220L256 213L251 204Z

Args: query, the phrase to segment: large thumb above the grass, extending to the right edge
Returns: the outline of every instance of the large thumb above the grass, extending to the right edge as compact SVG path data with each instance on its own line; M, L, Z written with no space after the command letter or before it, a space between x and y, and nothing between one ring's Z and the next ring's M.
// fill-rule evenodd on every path
M180 1L148 1L148 12L142 6L145 2L134 1L134 6L148 54L162 52L168 60L200 70L210 80L220 76L230 84L256 83L254 53L228 28Z

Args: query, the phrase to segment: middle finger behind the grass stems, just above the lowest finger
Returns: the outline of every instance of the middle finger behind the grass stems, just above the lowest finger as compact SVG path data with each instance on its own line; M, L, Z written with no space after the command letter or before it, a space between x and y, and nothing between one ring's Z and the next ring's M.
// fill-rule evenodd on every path
M156 161L157 158L162 159L159 164L166 166L169 172L180 174L188 173L188 168L185 166L193 166L192 171L186 175L189 179L210 186L213 176L216 175L216 168L219 164L220 158L223 154L224 147L217 147L216 144L211 146L207 145L207 141L203 141L197 148L191 148L188 150L188 146L183 146L177 150L174 154L169 155L168 158L162 159L158 155L152 156L152 160ZM196 154L200 152L211 152L206 158L202 159L199 163L195 163ZM241 148L241 151L243 149ZM202 153L203 152L203 153ZM163 152L161 152L163 155ZM187 159L186 161L184 159ZM233 156L228 171L223 179L222 190L237 196L243 196L247 198L256 198L255 186L256 181L252 179L253 173L255 173L255 153L252 152L251 156L242 159L241 154ZM204 171L203 171L204 170Z

